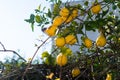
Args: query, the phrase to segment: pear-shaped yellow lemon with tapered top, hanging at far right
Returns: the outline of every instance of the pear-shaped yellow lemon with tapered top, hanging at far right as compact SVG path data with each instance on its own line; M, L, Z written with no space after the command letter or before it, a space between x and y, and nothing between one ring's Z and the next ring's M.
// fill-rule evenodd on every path
M104 47L106 45L106 38L103 33L100 33L100 35L97 37L96 45L100 47Z

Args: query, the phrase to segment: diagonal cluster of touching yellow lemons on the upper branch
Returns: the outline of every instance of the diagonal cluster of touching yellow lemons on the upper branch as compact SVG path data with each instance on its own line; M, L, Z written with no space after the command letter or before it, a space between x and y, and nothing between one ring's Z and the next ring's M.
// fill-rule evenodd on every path
M59 16L56 16L53 19L52 25L45 30L45 33L49 36L54 36L56 34L56 30L61 24L69 23L73 19L75 19L77 16L78 16L78 9L73 8L69 10L66 7L62 8L59 12Z

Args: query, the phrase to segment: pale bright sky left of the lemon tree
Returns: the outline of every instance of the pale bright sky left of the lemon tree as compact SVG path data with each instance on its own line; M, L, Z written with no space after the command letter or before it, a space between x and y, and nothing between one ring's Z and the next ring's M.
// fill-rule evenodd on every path
M40 28L35 27L35 32L32 32L29 23L24 21L34 13L39 4L47 6L45 0L0 0L0 42L6 49L16 52L20 50L20 55L26 59L32 57L35 52L34 45L41 44L37 39L46 38ZM46 47L41 48L38 55L45 49ZM0 52L0 60L6 56L10 57L11 54Z

